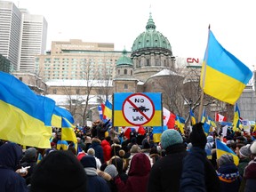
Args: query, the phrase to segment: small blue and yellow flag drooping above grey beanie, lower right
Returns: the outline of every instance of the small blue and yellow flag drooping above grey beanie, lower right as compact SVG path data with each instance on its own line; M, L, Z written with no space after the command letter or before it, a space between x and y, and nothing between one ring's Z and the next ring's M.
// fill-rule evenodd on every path
M228 146L225 143L221 142L220 140L215 140L215 143L217 159L219 159L220 156L222 155L228 154L233 156L234 164L236 164L236 166L239 164L239 158L238 156L236 156L236 154L231 148L228 148Z

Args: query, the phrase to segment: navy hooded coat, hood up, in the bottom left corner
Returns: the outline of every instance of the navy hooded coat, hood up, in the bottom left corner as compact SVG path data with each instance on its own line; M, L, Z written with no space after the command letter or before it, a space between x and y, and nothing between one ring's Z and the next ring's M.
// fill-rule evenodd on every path
M16 171L20 163L22 149L15 143L5 143L0 147L0 191L28 191L25 179Z

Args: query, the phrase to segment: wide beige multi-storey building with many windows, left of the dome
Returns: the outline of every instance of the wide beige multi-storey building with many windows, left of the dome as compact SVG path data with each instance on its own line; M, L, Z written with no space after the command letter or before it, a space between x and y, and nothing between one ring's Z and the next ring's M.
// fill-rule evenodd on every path
M36 74L45 81L111 79L121 55L110 43L87 43L79 39L53 41L50 52L36 57Z

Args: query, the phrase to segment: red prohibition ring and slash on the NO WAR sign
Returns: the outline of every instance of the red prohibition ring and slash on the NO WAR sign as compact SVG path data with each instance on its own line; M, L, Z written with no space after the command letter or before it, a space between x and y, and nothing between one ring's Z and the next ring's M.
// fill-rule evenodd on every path
M147 99L149 100L149 102L151 103L151 106L152 106L152 115L151 115L150 117L147 116L147 117L148 117L148 121L146 121L146 122L144 122L144 123L141 123L141 124L134 124L134 123L131 122L129 119L127 119L126 116L124 116L124 104L125 104L125 102L129 102L131 105L133 105L133 107L136 107L136 108L137 108L137 106L135 106L135 104L133 104L132 101L130 100L131 97L136 96L136 95L140 95L140 96L143 96L143 97L147 98ZM137 108L137 109L138 109L138 108ZM141 112L140 110L139 110L139 112L140 112L140 114L141 114L142 116L146 117L146 115L143 114L143 112ZM127 98L124 100L123 106L122 106L122 113L123 113L123 116L124 116L124 119L126 120L126 122L128 122L129 124L132 124L132 125L134 125L134 126L139 126L139 125L143 125L143 124L148 124L148 122L150 122L150 121L152 120L153 116L155 115L155 106L154 106L153 101L152 101L147 95L142 94L142 93L133 93L132 95L130 95L129 97L127 97Z

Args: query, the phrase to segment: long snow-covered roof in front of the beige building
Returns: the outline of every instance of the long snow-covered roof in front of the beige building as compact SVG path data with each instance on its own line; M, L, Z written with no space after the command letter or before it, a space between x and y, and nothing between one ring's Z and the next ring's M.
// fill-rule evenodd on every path
M45 82L48 86L93 86L106 87L113 86L112 80L63 80L53 79Z

